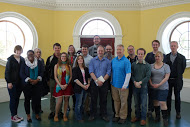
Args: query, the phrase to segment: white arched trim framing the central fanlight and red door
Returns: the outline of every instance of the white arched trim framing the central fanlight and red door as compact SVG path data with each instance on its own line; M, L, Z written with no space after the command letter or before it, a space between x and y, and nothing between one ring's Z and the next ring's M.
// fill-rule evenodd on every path
M91 11L81 16L79 20L77 21L77 23L75 24L75 27L73 30L73 45L75 46L76 49L80 48L80 44L81 44L80 38L87 37L85 35L81 35L81 29L84 23L86 23L86 21L88 21L89 19L93 19L96 17L100 17L100 18L108 20L114 29L115 35L100 36L100 37L101 38L103 37L115 38L115 43L114 43L115 48L118 44L122 44L123 35L122 35L121 26L119 22L117 21L117 19L113 15L105 11ZM93 37L93 36L88 36L88 37ZM115 49L115 54L116 54L116 49Z

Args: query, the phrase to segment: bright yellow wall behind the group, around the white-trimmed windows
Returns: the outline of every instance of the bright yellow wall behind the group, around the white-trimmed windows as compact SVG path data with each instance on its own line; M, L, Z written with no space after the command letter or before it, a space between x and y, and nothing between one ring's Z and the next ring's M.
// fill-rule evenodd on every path
M151 41L156 39L160 25L171 15L190 11L190 4L151 9L145 11L108 11L120 23L123 33L123 44L135 48L144 47L152 50ZM73 29L77 20L88 11L51 11L7 3L0 3L0 12L15 11L26 16L38 32L38 46L42 49L42 57L46 60L53 53L52 45L59 42L62 51L73 44ZM127 55L127 51L125 51ZM4 78L4 68L0 66L0 79ZM186 69L185 78L190 78L190 69Z

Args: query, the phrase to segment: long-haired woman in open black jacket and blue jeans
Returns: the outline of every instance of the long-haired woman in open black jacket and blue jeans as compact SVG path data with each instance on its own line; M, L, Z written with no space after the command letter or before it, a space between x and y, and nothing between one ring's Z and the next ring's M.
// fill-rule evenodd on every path
M86 99L86 91L90 86L90 74L88 68L85 67L83 56L79 55L76 58L76 64L73 68L74 92L76 97L75 117L79 122L84 122L82 119L83 104Z

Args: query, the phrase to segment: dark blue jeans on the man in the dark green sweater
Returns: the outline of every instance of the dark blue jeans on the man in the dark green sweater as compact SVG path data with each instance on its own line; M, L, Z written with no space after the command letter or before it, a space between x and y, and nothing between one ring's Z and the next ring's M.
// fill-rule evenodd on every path
M135 99L135 117L141 120L146 120L147 113L147 87L133 89Z

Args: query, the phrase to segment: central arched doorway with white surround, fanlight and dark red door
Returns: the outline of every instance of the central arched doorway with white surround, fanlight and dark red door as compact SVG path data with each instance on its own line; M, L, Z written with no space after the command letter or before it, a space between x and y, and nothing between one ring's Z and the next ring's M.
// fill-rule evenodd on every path
M116 54L115 47L122 44L122 30L117 19L105 11L92 11L84 14L77 21L73 30L73 45L80 49L81 45L93 45L93 36L99 35L100 44L110 44L113 47L113 54Z

